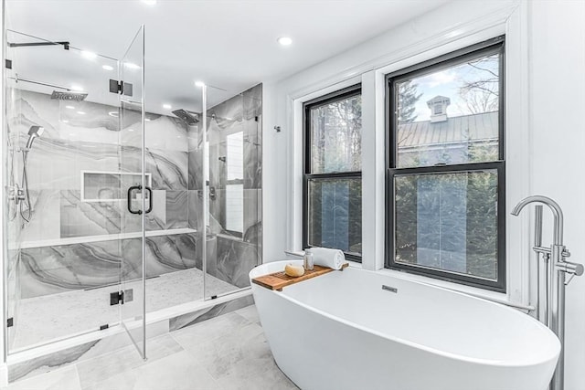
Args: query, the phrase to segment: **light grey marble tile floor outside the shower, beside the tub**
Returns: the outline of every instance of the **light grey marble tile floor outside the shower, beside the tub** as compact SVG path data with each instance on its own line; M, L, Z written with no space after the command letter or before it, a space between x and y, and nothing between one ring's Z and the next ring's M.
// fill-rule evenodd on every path
M151 339L148 360L125 347L1 390L288 390L254 305Z

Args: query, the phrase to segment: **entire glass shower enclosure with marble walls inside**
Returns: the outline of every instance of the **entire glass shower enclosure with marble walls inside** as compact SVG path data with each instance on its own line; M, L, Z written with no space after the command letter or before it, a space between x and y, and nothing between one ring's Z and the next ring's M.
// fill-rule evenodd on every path
M113 55L16 30L2 142L8 357L112 328L144 357L150 323L174 331L250 304L221 299L249 289L261 263L261 84L186 79L192 93L176 98L149 92L144 26ZM181 108L149 103L174 99Z

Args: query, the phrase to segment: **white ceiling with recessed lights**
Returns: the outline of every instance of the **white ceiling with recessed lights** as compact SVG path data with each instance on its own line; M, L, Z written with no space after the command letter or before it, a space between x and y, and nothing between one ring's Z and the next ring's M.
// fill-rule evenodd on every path
M259 82L285 79L371 37L399 26L447 0L6 0L6 26L103 56L122 58L144 24L146 109L201 110L195 80L209 86L207 106ZM151 2L152 3L152 2ZM277 37L293 38L282 47ZM28 42L30 37L9 35ZM139 59L139 47L131 61ZM9 49L19 77L51 84L80 85L88 100L115 102L107 83L116 62L85 58L61 47ZM114 70L101 69L105 63ZM129 72L130 73L130 72ZM136 75L130 75L136 79ZM139 82L139 79L136 79ZM25 86L20 88L52 89Z

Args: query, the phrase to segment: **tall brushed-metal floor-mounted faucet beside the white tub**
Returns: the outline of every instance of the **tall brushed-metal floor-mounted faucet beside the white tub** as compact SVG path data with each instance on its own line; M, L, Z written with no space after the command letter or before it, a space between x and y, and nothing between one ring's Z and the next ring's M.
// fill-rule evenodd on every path
M554 216L553 242L550 248L542 247L542 206L536 206L535 217L535 243L532 248L537 253L539 260L542 255L546 264L546 278L540 277L538 272L537 280L537 317L557 334L560 341L561 351L558 356L557 369L550 383L550 390L564 389L564 367L565 367L565 287L575 277L583 274L583 265L565 260L570 253L563 245L563 212L557 202L547 196L533 195L522 199L514 210L513 216L518 216L520 211L531 203L547 205ZM539 269L539 266L537 267ZM565 274L570 274L565 280ZM544 286L543 286L544 285ZM541 292L545 291L544 297ZM544 300L544 301L543 301ZM544 314L540 314L540 307L544 306Z

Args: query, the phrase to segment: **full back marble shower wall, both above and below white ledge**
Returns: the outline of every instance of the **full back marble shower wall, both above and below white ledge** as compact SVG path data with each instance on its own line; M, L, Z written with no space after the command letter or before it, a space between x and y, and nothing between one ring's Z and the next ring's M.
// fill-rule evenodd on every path
M51 100L47 94L26 90L12 93L8 126L16 135L10 138L23 147L30 126L45 128L28 153L33 216L22 225L19 237L10 237L23 247L16 278L21 296L15 300L116 283L122 249L125 255L132 254L139 240L110 235L139 232L141 224L140 217L126 211L125 193L112 177L140 171L142 140L139 132L133 132L140 115L127 112L120 132L116 107ZM175 117L149 113L147 118L145 166L154 209L145 217L146 230L173 234L168 230L188 227L187 127ZM17 163L20 155L16 154ZM21 170L16 167L18 178ZM90 182L100 175L83 176L84 171L107 174ZM122 188L128 184L123 181L135 178L122 176ZM87 201L96 194L99 198ZM195 267L195 237L185 230L177 233L181 234L148 238L147 276ZM70 240L75 243L69 244ZM128 264L132 268L132 262Z

